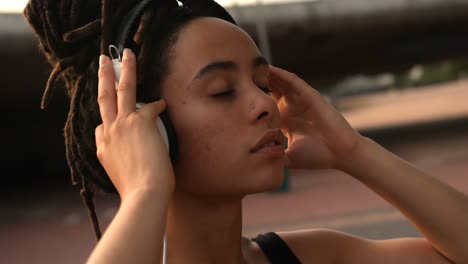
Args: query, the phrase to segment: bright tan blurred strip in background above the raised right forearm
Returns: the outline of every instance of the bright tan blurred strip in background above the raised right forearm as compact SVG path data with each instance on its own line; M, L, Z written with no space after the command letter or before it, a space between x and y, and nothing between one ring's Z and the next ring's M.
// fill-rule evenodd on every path
M359 131L468 117L468 79L348 97L334 105Z

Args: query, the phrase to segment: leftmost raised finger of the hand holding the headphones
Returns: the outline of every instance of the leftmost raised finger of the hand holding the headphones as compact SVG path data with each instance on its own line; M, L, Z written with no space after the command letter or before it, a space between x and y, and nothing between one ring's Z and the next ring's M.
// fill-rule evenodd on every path
M109 124L117 116L117 95L112 73L112 63L107 56L101 55L99 58L99 84L98 84L98 104L102 122Z

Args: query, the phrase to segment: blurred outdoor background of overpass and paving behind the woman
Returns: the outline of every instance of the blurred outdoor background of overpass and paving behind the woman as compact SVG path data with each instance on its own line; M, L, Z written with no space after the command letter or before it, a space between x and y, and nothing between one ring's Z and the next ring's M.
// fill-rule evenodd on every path
M220 1L272 64L305 79L388 150L468 194L468 0ZM0 263L83 263L95 244L71 185L57 89L21 12L0 1ZM339 171L285 171L245 199L244 233L333 228L372 239L420 236L386 201ZM105 228L118 207L98 197Z

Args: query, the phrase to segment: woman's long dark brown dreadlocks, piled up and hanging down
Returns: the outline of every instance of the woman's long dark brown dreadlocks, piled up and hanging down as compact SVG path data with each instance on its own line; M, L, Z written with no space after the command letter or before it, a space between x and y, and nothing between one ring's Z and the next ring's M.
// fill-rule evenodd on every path
M64 127L66 159L73 185L88 209L97 240L101 231L94 208L98 192L117 194L96 156L95 128L102 123L97 104L98 57L108 54L122 17L140 0L30 0L23 14L53 70L41 108L49 104L58 80L70 99ZM139 18L135 32L138 91L141 102L159 98L169 71L170 47L178 32L196 17L234 19L213 0L154 0ZM130 23L131 21L129 21Z

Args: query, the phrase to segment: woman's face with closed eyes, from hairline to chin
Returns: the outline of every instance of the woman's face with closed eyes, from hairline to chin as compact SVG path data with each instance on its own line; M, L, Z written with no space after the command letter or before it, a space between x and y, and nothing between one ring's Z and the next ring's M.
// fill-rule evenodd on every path
M238 196L279 187L282 146L253 151L280 125L268 64L253 40L226 21L199 18L182 29L171 54L163 97L178 136L177 190Z

